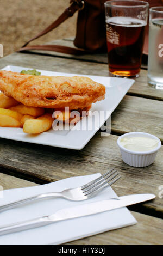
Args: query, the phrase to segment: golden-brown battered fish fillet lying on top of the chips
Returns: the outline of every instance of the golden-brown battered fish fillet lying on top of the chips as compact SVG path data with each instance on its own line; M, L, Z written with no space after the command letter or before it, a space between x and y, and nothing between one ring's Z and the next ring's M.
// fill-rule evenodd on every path
M0 90L29 107L85 108L103 100L105 87L87 77L32 76L0 71Z

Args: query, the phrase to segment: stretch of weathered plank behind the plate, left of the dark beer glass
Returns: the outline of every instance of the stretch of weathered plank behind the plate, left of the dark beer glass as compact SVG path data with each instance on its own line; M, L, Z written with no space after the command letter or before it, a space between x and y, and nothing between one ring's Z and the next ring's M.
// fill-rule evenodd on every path
M0 59L0 68L7 65L25 66L28 68L60 72L76 72L77 74L84 75L108 76L109 74L108 66L106 64L16 52Z

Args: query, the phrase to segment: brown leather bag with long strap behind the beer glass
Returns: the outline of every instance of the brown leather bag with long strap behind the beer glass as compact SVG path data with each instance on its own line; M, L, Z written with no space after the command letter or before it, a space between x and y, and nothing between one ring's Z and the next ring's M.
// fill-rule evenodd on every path
M90 54L95 52L106 52L106 28L105 28L105 10L104 2L106 0L71 0L68 7L59 18L48 26L44 31L30 39L19 51L26 50L48 50L67 54ZM163 5L163 0L148 0L150 7ZM54 28L58 27L62 22L73 16L76 11L78 13L77 32L74 39L74 46L71 48L60 45L31 45L29 42L40 38ZM148 54L148 28L146 32L146 40L144 51Z

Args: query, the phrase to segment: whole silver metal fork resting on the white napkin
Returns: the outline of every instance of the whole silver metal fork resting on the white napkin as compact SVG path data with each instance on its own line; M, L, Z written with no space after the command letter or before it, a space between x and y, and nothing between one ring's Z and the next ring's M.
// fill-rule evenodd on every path
M83 185L82 187L70 188L61 192L43 193L34 197L26 198L17 202L0 206L0 212L15 208L22 204L31 203L36 200L46 198L65 198L72 201L82 201L96 196L97 193L103 191L106 187L110 187L114 184L121 176L115 170L115 168L109 170L99 178L92 180L91 182Z

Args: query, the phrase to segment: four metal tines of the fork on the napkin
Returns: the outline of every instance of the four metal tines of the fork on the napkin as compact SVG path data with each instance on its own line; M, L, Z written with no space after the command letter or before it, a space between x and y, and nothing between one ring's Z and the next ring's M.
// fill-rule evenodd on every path
M95 193L104 190L106 187L110 187L120 178L121 176L118 171L115 168L112 168L99 178L83 185L81 189L85 196L91 197L94 196Z

